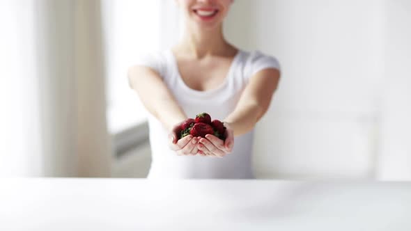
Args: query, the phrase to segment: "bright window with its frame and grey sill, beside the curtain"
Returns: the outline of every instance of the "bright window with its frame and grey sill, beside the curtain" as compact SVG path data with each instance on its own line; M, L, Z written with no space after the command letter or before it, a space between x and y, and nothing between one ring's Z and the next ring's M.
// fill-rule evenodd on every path
M102 0L107 73L107 123L116 156L148 141L147 112L130 89L128 67L137 56L175 44L180 35L176 3L170 0Z

